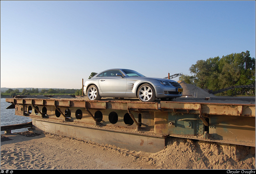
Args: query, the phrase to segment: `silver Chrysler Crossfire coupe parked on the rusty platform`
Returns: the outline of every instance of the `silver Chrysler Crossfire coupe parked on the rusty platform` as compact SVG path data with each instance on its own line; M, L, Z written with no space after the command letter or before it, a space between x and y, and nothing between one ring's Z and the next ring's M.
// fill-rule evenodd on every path
M181 97L182 91L180 84L174 80L150 78L129 69L105 70L84 84L84 94L89 100L114 97L154 102L156 98L172 100Z

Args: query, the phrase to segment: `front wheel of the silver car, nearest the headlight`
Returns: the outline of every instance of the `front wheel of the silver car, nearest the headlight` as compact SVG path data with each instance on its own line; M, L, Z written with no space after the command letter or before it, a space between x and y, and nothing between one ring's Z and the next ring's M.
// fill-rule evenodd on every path
M142 102L154 102L156 100L156 92L150 84L142 84L138 88L137 95Z

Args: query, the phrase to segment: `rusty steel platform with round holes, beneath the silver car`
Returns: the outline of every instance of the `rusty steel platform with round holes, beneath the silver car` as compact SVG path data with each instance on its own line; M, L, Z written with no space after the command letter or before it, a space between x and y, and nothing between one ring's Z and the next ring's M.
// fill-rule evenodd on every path
M135 151L158 152L168 139L255 147L255 104L80 98L6 98L34 131ZM71 147L72 148L72 147Z

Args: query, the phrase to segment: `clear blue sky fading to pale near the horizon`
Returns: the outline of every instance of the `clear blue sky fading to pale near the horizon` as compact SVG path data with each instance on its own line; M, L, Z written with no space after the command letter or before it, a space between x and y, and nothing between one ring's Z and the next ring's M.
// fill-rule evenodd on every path
M1 1L1 87L82 88L109 68L190 75L246 50L255 1Z

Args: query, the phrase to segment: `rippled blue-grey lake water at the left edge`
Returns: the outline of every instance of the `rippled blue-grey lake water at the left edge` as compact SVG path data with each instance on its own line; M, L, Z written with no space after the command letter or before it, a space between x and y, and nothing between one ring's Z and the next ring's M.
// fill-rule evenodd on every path
M1 98L1 126L15 125L20 123L28 123L32 121L29 117L24 117L20 115L15 115L15 109L6 109L11 104L5 101L5 98ZM28 131L27 128L12 130L14 132ZM4 131L1 131L4 134Z

